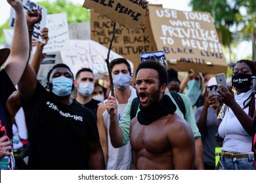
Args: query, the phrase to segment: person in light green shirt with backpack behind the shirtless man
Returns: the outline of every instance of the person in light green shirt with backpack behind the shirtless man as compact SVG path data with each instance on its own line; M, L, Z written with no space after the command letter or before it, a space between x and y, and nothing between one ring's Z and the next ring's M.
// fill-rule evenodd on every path
M159 53L159 52L154 52L153 55L155 55L155 53ZM150 56L152 56L152 53L145 53L145 54L146 55L150 54ZM165 69L167 69L166 60L162 59L163 54L160 54L160 55L161 55L160 57L157 57L156 59L152 59L152 60L158 61L165 67ZM202 141L200 138L201 134L196 125L196 118L194 115L194 111L193 111L190 99L186 95L181 93L177 94L178 97L177 95L175 97L173 93L171 94L165 90L165 94L169 95L173 103L176 105L177 110L175 111L175 113L180 114L182 118L186 120L188 125L190 125L194 133L195 146L196 146L195 169L198 169L198 170L203 169L203 148L202 148ZM182 105L182 102L184 103L184 105ZM111 108L118 108L114 98L108 99L108 101L106 102L106 109L110 111ZM110 133L110 140L111 140L112 146L114 146L115 148L119 148L130 141L130 134L129 134L130 123L131 123L131 120L138 114L139 111L140 111L139 99L136 97L135 100L129 101L127 103L127 106L123 111L123 114L119 122L117 121L117 118L110 119L111 123L110 123L109 133Z

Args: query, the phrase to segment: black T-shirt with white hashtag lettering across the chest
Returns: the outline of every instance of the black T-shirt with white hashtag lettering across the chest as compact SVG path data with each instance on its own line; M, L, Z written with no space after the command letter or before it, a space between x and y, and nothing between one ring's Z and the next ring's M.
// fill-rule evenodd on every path
M78 103L63 105L39 82L24 106L30 141L28 169L89 169L88 142L98 142L92 112Z

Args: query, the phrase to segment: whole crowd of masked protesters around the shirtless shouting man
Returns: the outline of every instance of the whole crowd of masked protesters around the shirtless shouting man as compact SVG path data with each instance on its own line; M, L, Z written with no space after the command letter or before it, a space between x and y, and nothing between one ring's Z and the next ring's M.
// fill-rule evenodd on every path
M227 88L192 69L182 80L161 52L145 53L135 75L127 59L112 60L114 93L109 78L64 63L43 84L47 27L29 63L41 12L7 2L16 18L11 49L0 50L0 169L255 170L255 61L237 61Z

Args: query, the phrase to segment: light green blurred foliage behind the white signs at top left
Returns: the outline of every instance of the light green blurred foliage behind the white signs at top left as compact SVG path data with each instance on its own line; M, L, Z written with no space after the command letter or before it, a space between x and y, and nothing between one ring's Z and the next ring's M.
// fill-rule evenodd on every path
M65 0L56 0L53 3L49 3L49 1L41 1L37 2L37 4L47 8L47 14L66 12L68 24L87 22L90 20L90 12L87 10L87 8L83 8L83 5L74 5L73 3ZM7 22L0 27L0 44L4 44L5 42L3 29L10 29L9 20L7 20Z

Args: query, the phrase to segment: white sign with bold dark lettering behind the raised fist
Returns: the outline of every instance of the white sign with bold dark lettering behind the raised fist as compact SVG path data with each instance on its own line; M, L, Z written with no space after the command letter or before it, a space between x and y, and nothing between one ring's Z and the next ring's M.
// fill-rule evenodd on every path
M37 10L41 11L42 19L39 23L34 25L32 37L33 37L33 39L35 39L37 41L45 43L45 41L43 39L41 39L40 33L41 33L41 29L43 29L43 27L45 27L45 25L46 25L47 9L44 7L41 7L40 5L37 5L36 3L33 3L30 0L24 0L22 3L23 3L23 5L28 7L30 10L37 9ZM24 10L24 11L26 11L26 10ZM15 23L15 11L13 8L11 8L9 26L14 28L14 23Z

